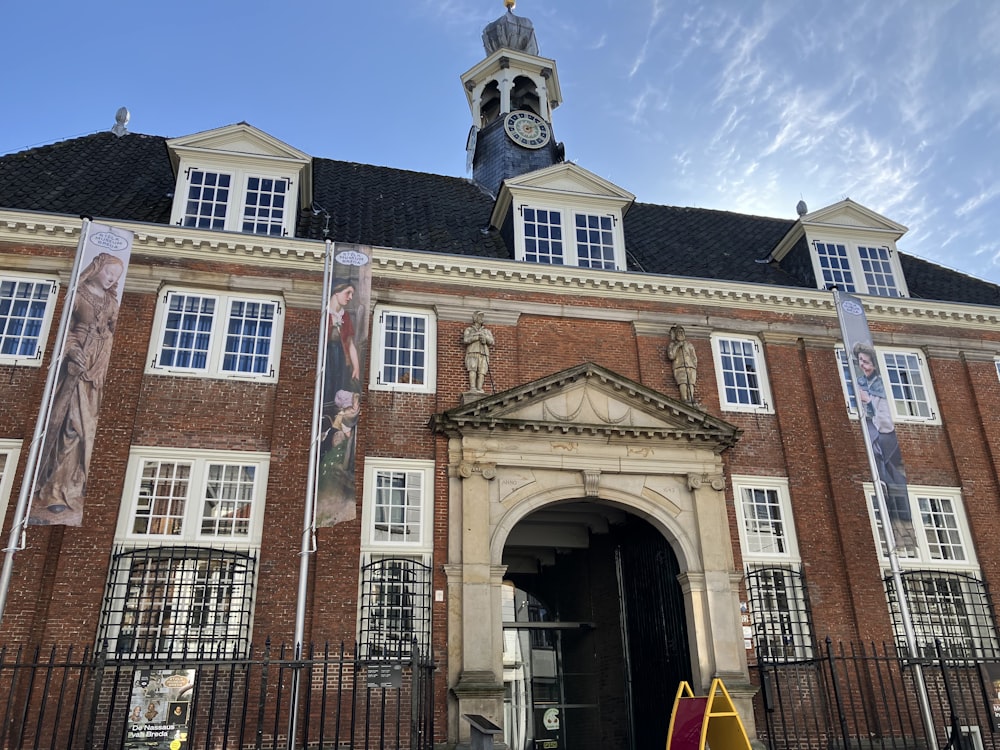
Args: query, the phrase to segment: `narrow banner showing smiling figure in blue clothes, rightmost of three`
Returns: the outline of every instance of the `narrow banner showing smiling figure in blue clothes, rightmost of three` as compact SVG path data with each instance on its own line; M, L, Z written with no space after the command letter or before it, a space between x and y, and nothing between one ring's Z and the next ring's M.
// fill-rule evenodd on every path
M886 539L895 547L915 548L913 517L906 487L906 469L899 452L896 425L889 406L892 393L882 378L879 357L872 345L871 331L861 300L853 295L833 291L844 336L848 370L854 385L858 416L868 455L878 484L877 495L884 502L883 525ZM891 384L889 385L891 389ZM885 516L888 515L888 523ZM891 536L890 536L891 533Z

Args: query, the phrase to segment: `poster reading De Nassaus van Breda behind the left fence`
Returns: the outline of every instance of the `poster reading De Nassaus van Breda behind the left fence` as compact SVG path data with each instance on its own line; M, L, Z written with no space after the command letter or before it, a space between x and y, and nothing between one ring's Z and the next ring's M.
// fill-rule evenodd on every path
M196 671L135 671L125 750L187 750Z

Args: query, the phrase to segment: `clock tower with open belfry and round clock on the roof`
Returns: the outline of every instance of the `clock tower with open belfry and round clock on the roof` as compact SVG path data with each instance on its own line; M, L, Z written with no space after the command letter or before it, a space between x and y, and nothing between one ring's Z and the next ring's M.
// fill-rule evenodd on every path
M554 60L540 57L527 18L507 12L483 29L486 58L462 76L472 111L466 144L472 178L497 194L508 177L563 160L552 134L552 110L562 101Z

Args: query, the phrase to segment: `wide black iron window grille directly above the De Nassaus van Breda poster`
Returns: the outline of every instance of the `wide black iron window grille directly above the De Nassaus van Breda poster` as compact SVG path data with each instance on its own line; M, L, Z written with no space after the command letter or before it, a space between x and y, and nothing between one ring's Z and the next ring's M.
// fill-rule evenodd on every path
M101 644L118 656L242 656L250 646L257 555L209 547L119 547Z

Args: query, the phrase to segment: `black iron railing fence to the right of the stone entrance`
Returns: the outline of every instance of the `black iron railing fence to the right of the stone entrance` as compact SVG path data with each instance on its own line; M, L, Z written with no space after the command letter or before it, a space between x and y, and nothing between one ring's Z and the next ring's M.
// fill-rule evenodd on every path
M754 668L757 731L770 750L1000 750L997 662L950 658L940 643L920 660L893 644L827 639L820 651Z

